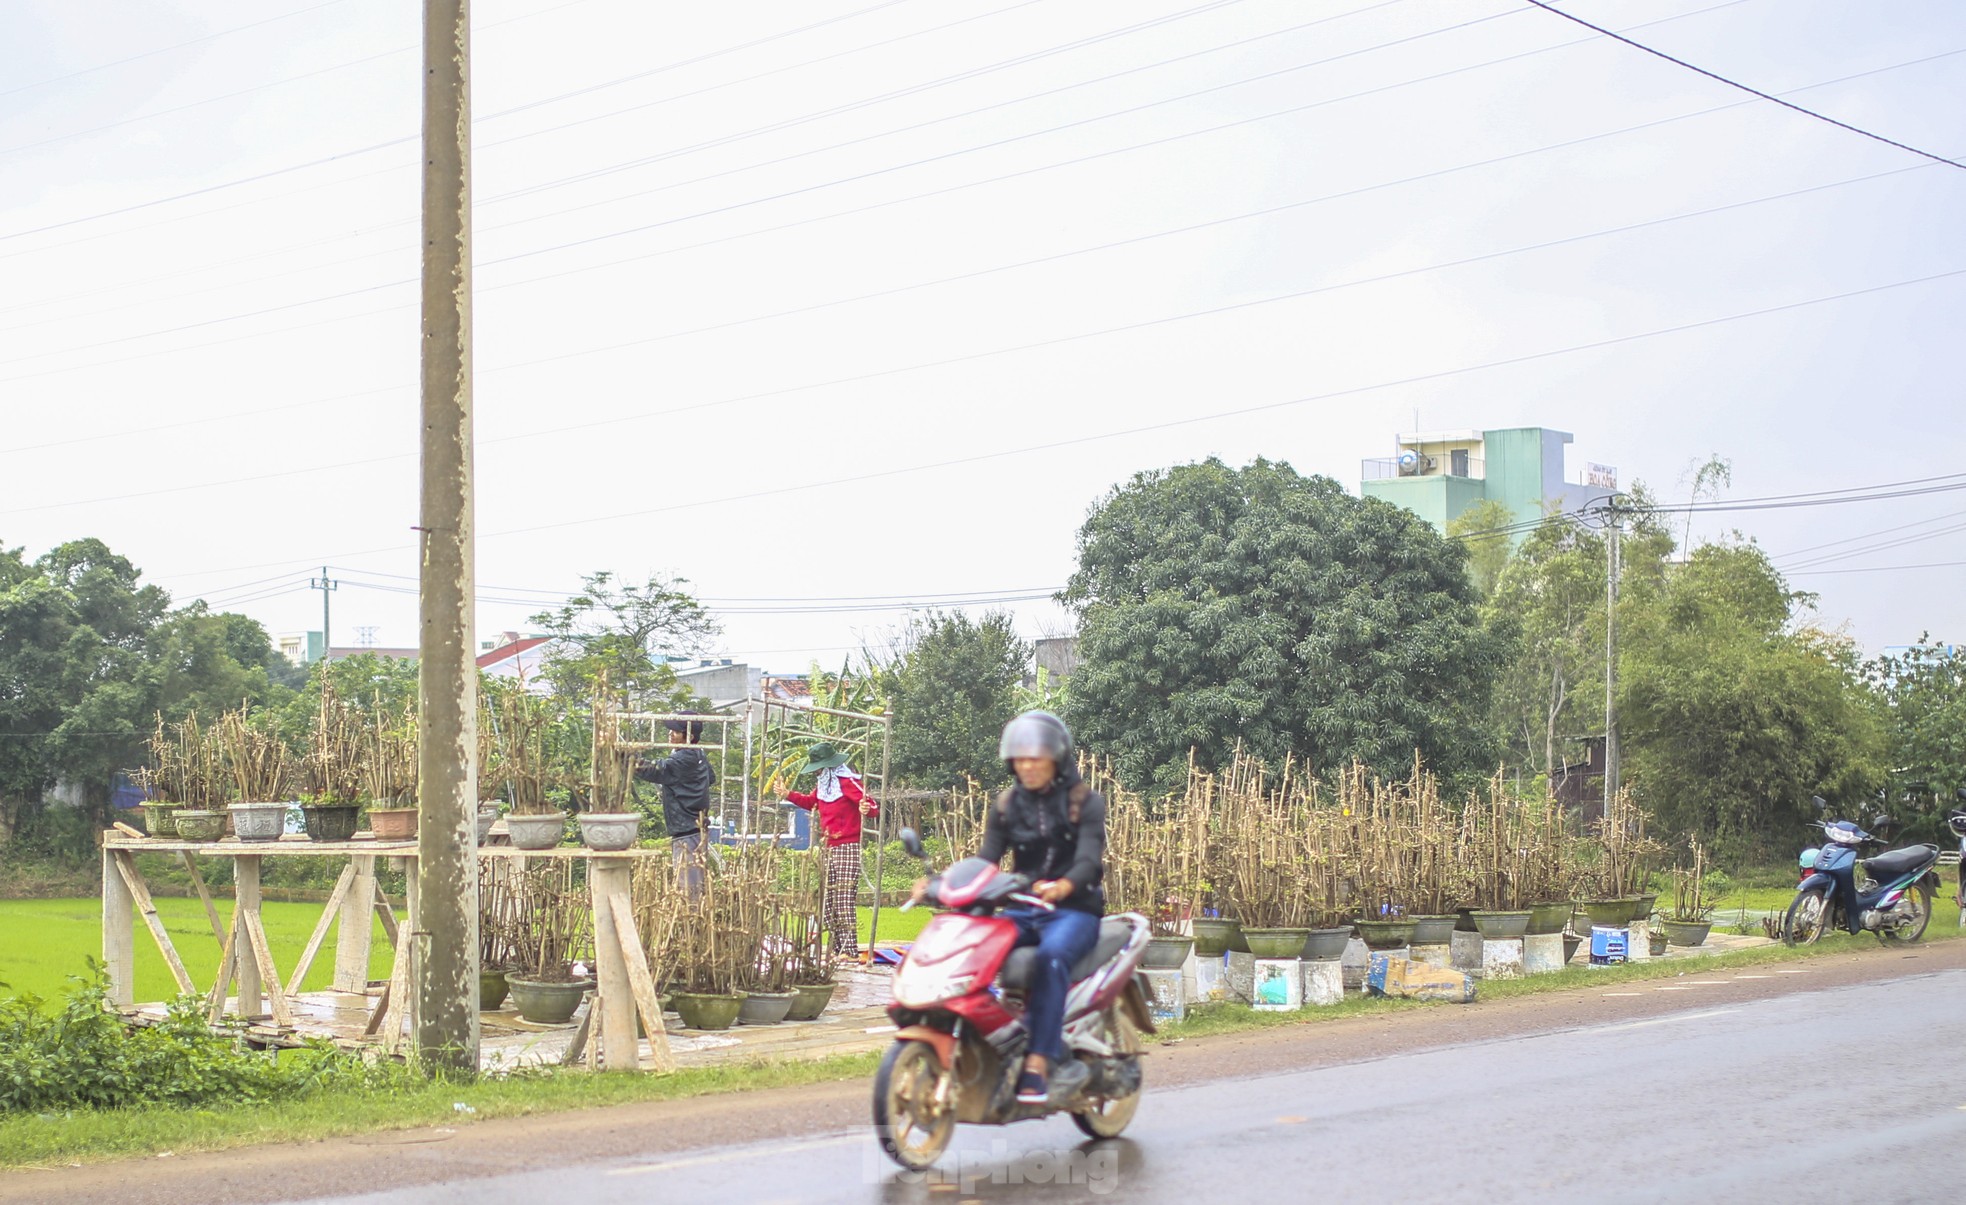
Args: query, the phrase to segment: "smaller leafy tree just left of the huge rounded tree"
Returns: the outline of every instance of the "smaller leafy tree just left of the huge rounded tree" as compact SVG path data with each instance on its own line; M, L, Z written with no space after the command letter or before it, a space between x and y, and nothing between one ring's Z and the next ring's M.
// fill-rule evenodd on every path
M930 615L881 674L895 714L895 775L918 786L1003 778L997 739L1016 712L1030 645L1011 615Z

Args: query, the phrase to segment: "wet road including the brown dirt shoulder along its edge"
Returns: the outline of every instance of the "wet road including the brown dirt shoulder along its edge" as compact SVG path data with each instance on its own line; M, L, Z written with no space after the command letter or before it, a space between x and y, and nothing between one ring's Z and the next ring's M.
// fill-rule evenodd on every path
M865 1081L0 1174L0 1205L1958 1201L1966 942L1148 1048L1128 1136L889 1166Z

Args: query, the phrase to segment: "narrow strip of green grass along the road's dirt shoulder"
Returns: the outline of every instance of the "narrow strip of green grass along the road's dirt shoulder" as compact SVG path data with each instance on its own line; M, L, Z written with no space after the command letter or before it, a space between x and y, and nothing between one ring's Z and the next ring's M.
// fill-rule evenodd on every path
M1940 906L1927 942L1960 940L1958 912ZM1480 999L1498 1001L1583 987L1612 987L1648 979L1673 979L1764 963L1801 961L1830 953L1876 949L1872 936L1824 938L1801 949L1762 946L1701 959L1640 961L1622 967L1567 967L1535 979L1482 983ZM1158 1042L1207 1038L1280 1026L1307 1026L1402 1012L1412 1008L1451 1008L1412 1001L1347 999L1331 1008L1301 1012L1256 1012L1244 1004L1197 1010L1185 1020L1162 1026ZM161 1152L191 1154L252 1146L258 1142L313 1142L376 1130L429 1124L468 1124L493 1117L527 1117L570 1109L598 1109L637 1101L680 1101L712 1093L767 1087L798 1087L873 1075L877 1054L838 1056L814 1062L753 1062L729 1067L692 1067L674 1075L629 1073L535 1073L472 1083L433 1081L411 1091L320 1093L301 1101L254 1109L140 1109L0 1119L0 1168L55 1168ZM464 1109L470 1113L466 1113Z

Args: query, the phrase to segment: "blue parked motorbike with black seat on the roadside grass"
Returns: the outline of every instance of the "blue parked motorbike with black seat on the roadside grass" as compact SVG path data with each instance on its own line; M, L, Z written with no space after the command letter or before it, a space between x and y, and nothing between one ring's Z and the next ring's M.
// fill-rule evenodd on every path
M1819 808L1822 800L1817 800ZM1803 849L1801 883L1781 922L1787 946L1811 946L1832 928L1850 928L1846 900L1856 900L1856 922L1883 942L1917 942L1933 920L1938 890L1937 845L1907 845L1862 857L1878 837L1848 820L1817 822L1822 845ZM1858 873L1864 877L1858 879Z

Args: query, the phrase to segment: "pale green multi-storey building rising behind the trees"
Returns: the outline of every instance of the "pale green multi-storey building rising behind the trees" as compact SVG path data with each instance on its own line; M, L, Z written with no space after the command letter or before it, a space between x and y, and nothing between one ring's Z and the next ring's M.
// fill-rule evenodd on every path
M1362 462L1359 491L1406 507L1441 531L1482 499L1506 505L1516 523L1533 523L1618 491L1618 470L1604 464L1590 464L1573 480L1563 468L1569 442L1567 430L1547 427L1402 434L1392 456Z

